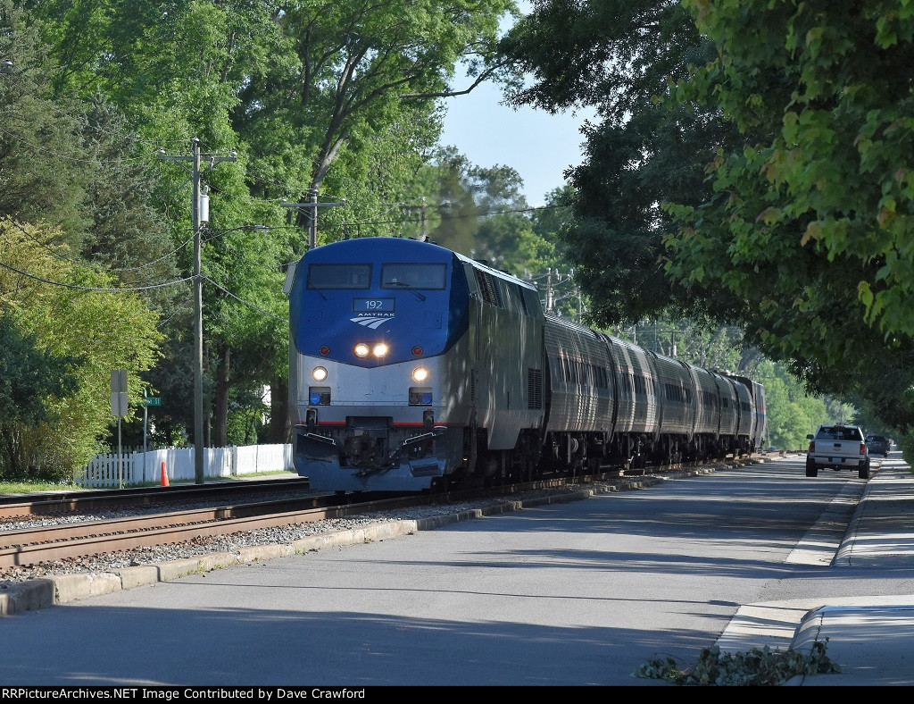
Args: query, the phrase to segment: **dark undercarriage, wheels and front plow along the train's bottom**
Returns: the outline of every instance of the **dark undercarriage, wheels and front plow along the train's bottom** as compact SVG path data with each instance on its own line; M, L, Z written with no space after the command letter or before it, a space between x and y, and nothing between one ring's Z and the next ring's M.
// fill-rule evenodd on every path
M518 434L510 450L491 450L479 428L394 427L388 419L356 419L345 428L318 432L297 426L296 466L306 476L346 475L359 491L368 485L415 485L417 490L456 490L556 477L669 467L683 462L740 456L749 448L736 438L604 432ZM313 480L315 485L320 482ZM383 489L379 489L383 490ZM393 489L392 489L393 490Z

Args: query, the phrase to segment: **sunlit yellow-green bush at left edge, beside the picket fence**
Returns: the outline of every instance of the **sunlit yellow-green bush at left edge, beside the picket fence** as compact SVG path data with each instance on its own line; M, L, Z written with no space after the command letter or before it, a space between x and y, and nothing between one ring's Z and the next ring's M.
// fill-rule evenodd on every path
M128 370L130 398L142 395L140 375L157 359L157 316L132 292L92 289L112 286L110 275L73 261L52 245L54 229L0 221L0 306L49 357L76 358L67 388L44 399L48 415L34 424L16 421L5 442L18 443L7 476L58 479L71 475L98 449L112 422L111 371ZM21 420L21 419L20 419Z

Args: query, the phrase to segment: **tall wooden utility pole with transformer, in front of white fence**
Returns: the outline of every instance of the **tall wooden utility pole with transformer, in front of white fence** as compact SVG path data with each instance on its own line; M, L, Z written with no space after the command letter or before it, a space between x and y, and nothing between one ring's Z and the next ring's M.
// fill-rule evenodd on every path
M194 479L197 484L204 483L203 475L203 276L201 272L201 242L200 242L200 159L205 158L212 168L218 162L238 161L238 154L231 152L228 156L201 155L200 140L194 137L190 140L190 156L165 155L165 150L159 150L159 158L166 161L189 161L191 167L183 167L191 175L192 194L190 198L191 219L194 224L194 351L196 360L194 364Z

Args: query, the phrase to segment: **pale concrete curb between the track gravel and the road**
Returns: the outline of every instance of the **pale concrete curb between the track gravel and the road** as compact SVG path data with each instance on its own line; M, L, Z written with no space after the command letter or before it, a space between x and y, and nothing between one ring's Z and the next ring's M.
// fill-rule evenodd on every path
M710 474L714 471L713 469L688 470L678 476ZM616 486L594 486L578 491L570 491L567 494L537 496L525 500L510 501L494 507L472 508L452 515L387 521L363 528L309 536L308 538L294 540L287 545L249 546L239 549L237 553L218 552L197 558L184 558L154 565L126 567L113 572L61 574L45 579L14 583L4 589L0 589L0 617L44 609L59 603L76 602L126 589L150 586L156 582L179 580L191 574L202 574L236 565L413 535L420 530L434 530L462 520L493 516L526 507L568 503L569 501L590 498L596 494L641 489L664 481L664 478L663 476L645 476L642 480L633 481L622 489Z

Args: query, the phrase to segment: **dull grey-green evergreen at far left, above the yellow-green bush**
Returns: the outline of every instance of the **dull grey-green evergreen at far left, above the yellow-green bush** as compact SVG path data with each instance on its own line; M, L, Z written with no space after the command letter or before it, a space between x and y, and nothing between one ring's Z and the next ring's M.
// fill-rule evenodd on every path
M157 208L158 182L148 169L152 150L97 86L80 96L79 82L62 78L72 79L76 72L69 63L61 68L56 57L73 57L56 52L38 31L53 37L58 26L35 21L19 9L25 5L30 4L0 2L0 56L13 61L9 72L0 72L0 215L55 226L41 231L55 233L56 240L46 244L57 256L66 251L74 263L112 272L118 285L144 286L138 295L167 311L163 325L169 344L179 343L183 331L192 329L186 317L189 284L161 285L180 278L183 251L174 251L168 218ZM143 150L147 156L138 157ZM30 236L32 229L23 233ZM59 244L69 248L55 249ZM185 358L175 354L172 363L177 367ZM179 398L179 389L180 384L165 387L169 400ZM167 408L181 412L176 403ZM186 417L191 408L188 401ZM130 430L127 422L128 436Z

